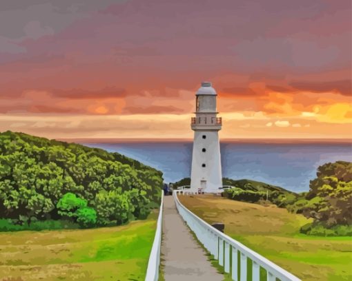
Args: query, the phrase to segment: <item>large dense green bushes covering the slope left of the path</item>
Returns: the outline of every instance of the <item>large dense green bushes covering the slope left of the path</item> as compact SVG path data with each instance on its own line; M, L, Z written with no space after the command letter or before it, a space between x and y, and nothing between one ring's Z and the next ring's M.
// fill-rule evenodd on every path
M81 227L146 218L162 172L103 149L0 134L0 217L19 225L70 220Z

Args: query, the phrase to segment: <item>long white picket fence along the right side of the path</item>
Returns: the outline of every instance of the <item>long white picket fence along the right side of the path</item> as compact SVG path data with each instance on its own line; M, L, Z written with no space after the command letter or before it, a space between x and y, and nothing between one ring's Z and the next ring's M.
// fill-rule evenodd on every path
M244 246L244 244L237 242L221 231L218 231L201 218L195 216L195 214L179 202L177 198L179 192L180 191L173 192L179 214L187 222L198 240L202 242L204 247L219 261L219 265L224 267L224 271L231 273L232 280L247 280L247 258L249 258L252 260L253 281L260 280L260 267L266 270L268 281L275 281L276 278L281 281L300 281L295 275L282 269L270 260Z

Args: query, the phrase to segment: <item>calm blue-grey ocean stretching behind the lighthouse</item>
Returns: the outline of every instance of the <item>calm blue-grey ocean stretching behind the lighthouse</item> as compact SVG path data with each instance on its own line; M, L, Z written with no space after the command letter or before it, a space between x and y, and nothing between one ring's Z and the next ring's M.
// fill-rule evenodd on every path
M85 143L108 152L119 152L163 171L164 181L173 183L190 176L193 144L187 141ZM231 143L220 144L222 176L247 178L308 191L319 165L336 160L352 162L349 143Z

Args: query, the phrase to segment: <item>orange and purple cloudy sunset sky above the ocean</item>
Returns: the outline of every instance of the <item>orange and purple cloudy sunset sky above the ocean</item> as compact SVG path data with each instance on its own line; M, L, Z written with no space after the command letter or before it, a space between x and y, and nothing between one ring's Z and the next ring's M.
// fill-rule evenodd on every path
M1 1L0 131L192 138L202 81L222 138L351 138L349 0Z

